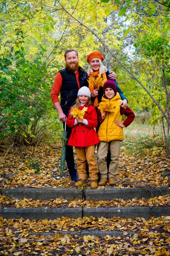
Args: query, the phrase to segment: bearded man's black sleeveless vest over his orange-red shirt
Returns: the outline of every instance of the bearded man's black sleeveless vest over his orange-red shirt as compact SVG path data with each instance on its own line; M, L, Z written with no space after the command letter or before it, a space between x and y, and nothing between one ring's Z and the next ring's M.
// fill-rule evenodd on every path
M87 73L81 67L79 70L79 81L80 87L88 86ZM61 94L61 107L62 111L67 115L71 106L75 103L77 99L77 93L79 90L76 74L74 71L67 68L60 70L59 73L62 75L62 87L60 90Z

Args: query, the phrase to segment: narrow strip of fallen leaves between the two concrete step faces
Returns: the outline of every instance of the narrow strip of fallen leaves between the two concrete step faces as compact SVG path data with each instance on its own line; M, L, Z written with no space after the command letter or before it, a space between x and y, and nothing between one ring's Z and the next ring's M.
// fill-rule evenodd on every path
M86 201L86 200L72 200L68 201L62 198L55 198L50 200L32 200L29 198L16 199L7 196L0 195L0 207L134 207L134 206L146 206L146 207L164 207L170 206L170 195L159 196L149 199L132 198L131 200L114 199L111 201Z

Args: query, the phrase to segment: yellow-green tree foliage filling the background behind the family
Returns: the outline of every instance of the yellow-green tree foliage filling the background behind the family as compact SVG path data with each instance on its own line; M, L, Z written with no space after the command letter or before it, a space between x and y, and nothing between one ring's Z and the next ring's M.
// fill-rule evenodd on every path
M170 90L169 1L60 1L66 10L93 29L112 52L168 111ZM50 140L61 131L52 108L51 86L63 68L63 52L75 48L80 65L99 50L104 65L117 74L119 86L135 112L151 111L151 122L161 113L94 35L80 26L58 1L1 1L0 13L0 139L16 144Z

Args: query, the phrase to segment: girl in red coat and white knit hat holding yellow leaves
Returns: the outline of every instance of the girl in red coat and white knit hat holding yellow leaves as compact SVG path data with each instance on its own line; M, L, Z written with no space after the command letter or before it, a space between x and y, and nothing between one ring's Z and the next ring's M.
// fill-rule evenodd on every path
M68 145L74 146L78 155L77 172L79 181L75 183L76 187L81 187L87 183L86 160L89 167L89 176L91 179L91 188L97 188L96 159L94 156L95 145L99 143L95 127L97 126L97 114L92 106L90 97L91 92L88 87L83 86L79 89L76 104L70 109L67 119L67 125L73 127ZM85 109L82 119L75 118L75 110Z

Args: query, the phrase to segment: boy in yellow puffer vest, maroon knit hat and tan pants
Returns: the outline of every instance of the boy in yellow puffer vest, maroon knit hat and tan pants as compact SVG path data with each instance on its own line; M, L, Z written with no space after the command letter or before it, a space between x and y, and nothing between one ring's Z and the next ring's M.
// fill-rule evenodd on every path
M98 185L105 186L109 181L109 186L113 186L116 184L115 176L118 172L120 141L123 140L123 128L130 125L135 118L135 114L129 107L123 109L120 106L122 100L119 93L117 93L116 84L113 80L108 79L105 82L103 93L102 102L99 104L100 110L97 110L98 121L100 123L98 131L100 143L97 159L101 177ZM123 114L127 118L122 123ZM111 150L111 163L108 170L105 158L109 147Z

